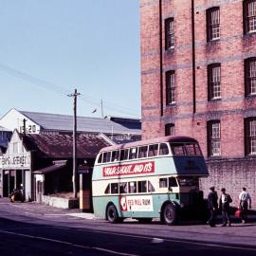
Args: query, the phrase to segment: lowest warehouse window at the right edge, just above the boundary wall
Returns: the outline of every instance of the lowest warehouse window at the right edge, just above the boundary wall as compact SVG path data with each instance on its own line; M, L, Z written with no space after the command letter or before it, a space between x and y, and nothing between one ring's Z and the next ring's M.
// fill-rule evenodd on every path
M256 155L256 118L245 119L246 155Z

